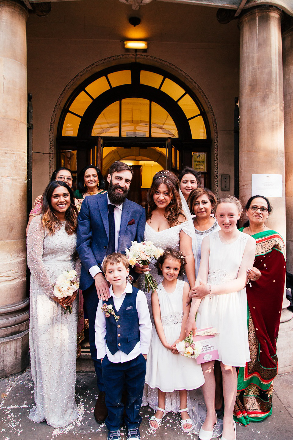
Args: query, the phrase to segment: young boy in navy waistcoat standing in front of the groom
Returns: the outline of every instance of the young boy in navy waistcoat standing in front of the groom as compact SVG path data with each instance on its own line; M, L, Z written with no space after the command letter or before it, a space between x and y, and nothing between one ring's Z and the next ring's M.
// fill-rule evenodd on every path
M127 393L125 425L127 440L139 440L141 400L152 323L145 294L131 286L127 257L111 253L103 262L103 272L111 284L108 301L99 301L95 321L95 341L101 360L108 417L108 440L120 439Z

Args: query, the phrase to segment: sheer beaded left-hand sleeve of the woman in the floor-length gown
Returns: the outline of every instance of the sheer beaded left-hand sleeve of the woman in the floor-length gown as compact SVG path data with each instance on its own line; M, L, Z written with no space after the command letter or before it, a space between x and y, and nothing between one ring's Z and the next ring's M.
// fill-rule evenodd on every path
M26 238L27 261L29 269L35 276L43 293L53 298L53 287L42 260L44 234L41 216L36 216L29 225L29 232Z

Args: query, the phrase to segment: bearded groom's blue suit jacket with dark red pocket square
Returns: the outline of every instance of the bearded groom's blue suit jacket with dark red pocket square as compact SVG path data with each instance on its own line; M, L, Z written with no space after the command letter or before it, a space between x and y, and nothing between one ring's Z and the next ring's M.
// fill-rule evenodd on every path
M134 220L134 222L131 220ZM132 224L128 224L130 221ZM125 199L122 208L118 252L125 253L125 248L129 248L132 241L142 242L144 233L145 209L137 205L137 203ZM81 290L86 290L94 282L89 269L96 265L101 268L101 263L108 248L108 242L107 193L86 197L81 205L77 227L76 250L82 262L80 274ZM132 276L134 276L134 273L134 271L131 271Z

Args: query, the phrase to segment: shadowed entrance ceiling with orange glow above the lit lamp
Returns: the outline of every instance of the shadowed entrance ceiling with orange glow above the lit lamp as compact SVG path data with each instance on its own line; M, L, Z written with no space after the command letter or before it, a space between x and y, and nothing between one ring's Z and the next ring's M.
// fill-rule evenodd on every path
M46 17L30 15L27 38L123 40L156 42L239 44L237 20L221 25L217 9L194 4L152 1L133 11L118 0L58 1ZM131 16L141 18L131 26ZM77 54L72 54L77 56Z

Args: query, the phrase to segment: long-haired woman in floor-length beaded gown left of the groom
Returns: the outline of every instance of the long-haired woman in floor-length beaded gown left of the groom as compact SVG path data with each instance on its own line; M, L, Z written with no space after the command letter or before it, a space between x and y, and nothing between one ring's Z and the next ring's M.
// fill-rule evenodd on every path
M64 182L51 182L43 194L42 214L27 236L30 281L29 347L36 406L29 418L61 427L76 420L76 292L58 300L53 285L63 271L75 268L77 210ZM72 314L64 313L66 305Z

